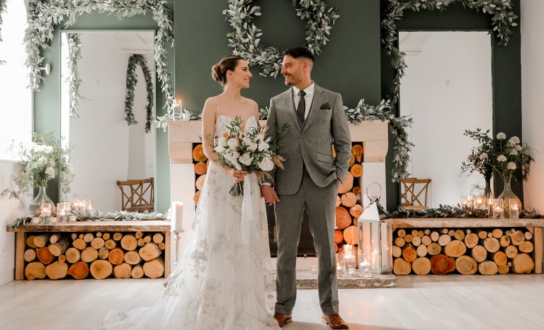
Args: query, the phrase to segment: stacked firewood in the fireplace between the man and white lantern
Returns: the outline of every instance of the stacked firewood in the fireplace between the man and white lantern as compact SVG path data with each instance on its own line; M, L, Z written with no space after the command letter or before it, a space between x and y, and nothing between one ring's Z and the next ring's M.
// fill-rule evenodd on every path
M349 172L340 184L336 196L336 229L334 230L334 250L343 252L345 244L357 245L357 219L363 213L361 206L361 187L355 178L363 175L363 146L353 143Z

